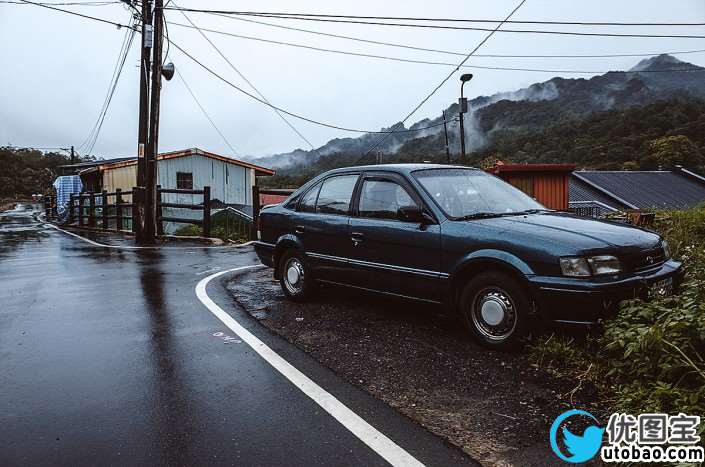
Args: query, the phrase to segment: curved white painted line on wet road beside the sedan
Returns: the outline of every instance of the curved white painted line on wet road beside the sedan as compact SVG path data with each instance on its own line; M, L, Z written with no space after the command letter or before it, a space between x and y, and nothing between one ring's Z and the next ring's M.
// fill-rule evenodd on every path
M242 266L239 268L228 269L208 277L203 278L196 286L196 297L203 303L208 310L223 322L231 331L247 343L252 349L257 352L260 357L264 358L267 363L272 365L286 379L299 388L301 392L314 400L320 405L323 410L328 412L341 425L347 428L353 435L360 439L363 443L369 446L373 451L379 454L384 460L393 466L419 467L423 466L418 459L406 452L399 445L387 438L379 432L375 427L363 420L359 415L350 410L345 404L336 399L332 394L314 383L308 376L296 369L291 363L287 362L279 354L273 351L267 344L259 340L254 334L245 329L225 310L220 308L206 293L208 283L213 279L228 274L234 271L242 271L259 267L260 265Z

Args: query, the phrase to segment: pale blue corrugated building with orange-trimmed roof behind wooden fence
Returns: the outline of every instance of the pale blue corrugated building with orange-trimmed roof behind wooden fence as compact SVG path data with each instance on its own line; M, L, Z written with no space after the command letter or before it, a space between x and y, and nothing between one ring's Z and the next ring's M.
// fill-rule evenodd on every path
M137 185L137 158L119 158L64 166L63 173L78 171L85 191L130 191ZM274 175L274 171L248 162L192 148L157 156L157 184L163 188L199 190L211 187L212 207L234 207L252 212L252 187L257 177ZM201 195L163 194L168 203L197 204ZM168 212L166 212L168 211ZM197 217L200 211L165 209L165 217ZM177 225L167 224L173 233Z

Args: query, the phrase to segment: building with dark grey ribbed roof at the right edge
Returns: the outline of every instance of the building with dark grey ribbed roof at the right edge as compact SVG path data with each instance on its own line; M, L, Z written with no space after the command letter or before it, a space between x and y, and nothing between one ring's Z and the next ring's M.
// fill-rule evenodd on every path
M571 174L569 205L603 215L632 209L685 209L705 203L705 177L683 167L654 171L588 171Z

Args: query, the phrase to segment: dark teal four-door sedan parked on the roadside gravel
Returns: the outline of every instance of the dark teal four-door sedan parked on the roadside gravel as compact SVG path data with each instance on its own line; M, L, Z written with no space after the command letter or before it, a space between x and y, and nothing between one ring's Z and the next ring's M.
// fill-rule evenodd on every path
M258 236L291 300L331 283L444 304L498 348L521 343L532 320L592 324L682 278L658 234L546 209L459 166L331 170L263 208Z

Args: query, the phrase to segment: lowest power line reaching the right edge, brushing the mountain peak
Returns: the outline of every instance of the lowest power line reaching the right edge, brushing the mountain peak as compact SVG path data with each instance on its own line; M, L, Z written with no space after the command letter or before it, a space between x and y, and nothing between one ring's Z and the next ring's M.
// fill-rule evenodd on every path
M264 39L261 37L253 37L253 36L245 36L242 34L234 34L231 32L227 31L220 31L217 29L209 29L209 28L203 28L203 27L194 27L194 26L189 26L188 24L181 24L181 23L176 23L176 22L169 22L169 24L174 25L174 26L180 26L184 28L189 28L189 29L198 29L199 31L207 31L211 32L214 34L221 34L225 36L230 36L230 37L235 37L238 39L246 39L246 40L252 40L252 41L258 41L258 42L264 42L268 44L274 44L274 45L284 45L284 46L289 46L289 47L296 47L296 48L302 48L302 49L308 49L308 50L315 50L317 52L327 52L327 53L334 53L334 54L341 54L341 55L350 55L350 56L355 56L355 57L364 57L364 58L374 58L374 59L380 59L380 60L391 60L395 62L405 62L405 63L416 63L416 64L423 64L423 65L440 65L440 66L456 66L455 63L450 63L450 62L438 62L438 61L430 61L430 60L416 60L416 59L408 59L408 58L401 58L401 57L390 57L387 55L377 55L377 54L368 54L368 53L361 53L361 52L350 52L346 50L337 50L337 49L328 49L324 47L316 47L312 45L306 45L306 44L297 44L293 42L284 42L284 41L276 41L272 39ZM703 50L705 52L705 50ZM463 54L465 56L465 54ZM574 73L574 74L603 74L603 73L608 73L610 70L564 70L564 69L543 69L543 68L521 68L521 67L497 67L497 66L484 66L484 65L463 65L463 68L476 68L476 69L483 69L483 70L503 70L503 71L528 71L528 72L542 72L542 73ZM681 68L681 69L666 69L666 70L645 70L642 73L667 73L667 72L692 72L692 71L703 71L702 69L692 69L692 68Z

